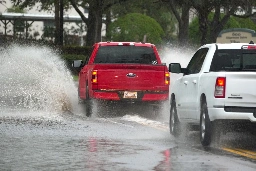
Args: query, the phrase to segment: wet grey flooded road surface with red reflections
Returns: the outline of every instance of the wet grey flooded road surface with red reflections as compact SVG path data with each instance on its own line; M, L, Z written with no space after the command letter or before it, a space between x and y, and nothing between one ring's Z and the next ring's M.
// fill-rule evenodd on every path
M175 140L165 122L139 115L8 114L1 112L0 170L256 169L219 147L203 149L197 133Z

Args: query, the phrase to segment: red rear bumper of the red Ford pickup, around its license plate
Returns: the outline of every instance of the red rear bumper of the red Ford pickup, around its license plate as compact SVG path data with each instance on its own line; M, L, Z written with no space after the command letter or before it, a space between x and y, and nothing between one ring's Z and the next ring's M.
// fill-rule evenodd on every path
M112 101L166 101L168 91L137 91L137 98L124 98L124 91L93 91L92 98Z

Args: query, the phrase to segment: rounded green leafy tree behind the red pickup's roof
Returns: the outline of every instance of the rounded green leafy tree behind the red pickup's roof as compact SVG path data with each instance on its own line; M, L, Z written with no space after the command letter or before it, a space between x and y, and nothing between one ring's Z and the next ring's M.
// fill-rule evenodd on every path
M146 41L160 44L164 36L162 27L153 18L131 13L118 18L110 25L113 41Z

